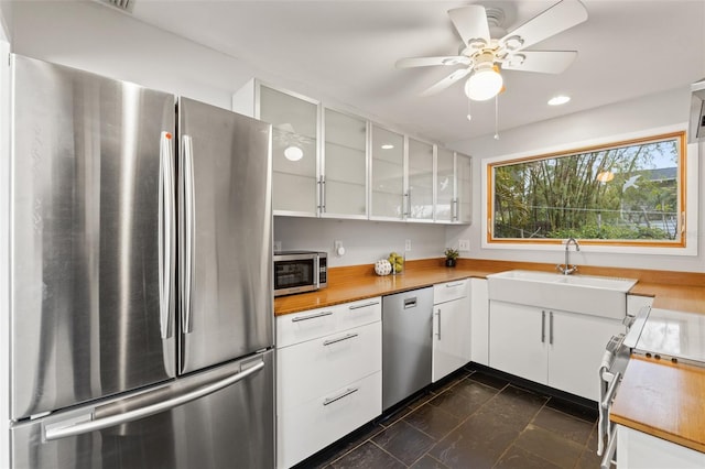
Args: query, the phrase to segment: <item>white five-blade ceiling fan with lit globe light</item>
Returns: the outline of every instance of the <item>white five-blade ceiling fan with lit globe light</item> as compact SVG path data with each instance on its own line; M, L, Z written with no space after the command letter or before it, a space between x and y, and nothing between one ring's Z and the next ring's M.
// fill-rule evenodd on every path
M576 51L527 51L527 47L584 22L587 10L578 0L562 0L510 33L501 28L505 12L498 8L473 4L448 10L448 15L463 40L458 55L401 58L397 67L464 65L421 96L440 92L469 75L465 94L481 101L501 91L500 68L544 74L565 70L577 56Z

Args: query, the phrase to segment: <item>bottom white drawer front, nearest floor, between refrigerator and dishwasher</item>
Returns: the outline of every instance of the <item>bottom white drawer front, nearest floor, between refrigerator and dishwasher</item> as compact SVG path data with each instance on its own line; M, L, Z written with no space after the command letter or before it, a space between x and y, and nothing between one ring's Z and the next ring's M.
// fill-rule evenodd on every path
M276 466L290 468L380 415L381 377L370 374L279 414Z

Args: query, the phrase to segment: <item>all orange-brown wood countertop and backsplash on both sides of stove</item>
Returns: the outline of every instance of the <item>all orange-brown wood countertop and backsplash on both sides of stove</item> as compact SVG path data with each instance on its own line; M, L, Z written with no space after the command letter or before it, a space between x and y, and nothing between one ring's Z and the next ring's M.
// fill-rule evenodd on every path
M372 265L332 268L328 287L274 298L276 316L388 295L514 269L555 272L554 264L458 259L406 261L401 275L378 276ZM619 268L579 266L578 274L637 279L630 294L654 297L653 306L705 314L705 274ZM596 364L597 367L597 364ZM705 452L705 369L631 360L610 418L640 432Z

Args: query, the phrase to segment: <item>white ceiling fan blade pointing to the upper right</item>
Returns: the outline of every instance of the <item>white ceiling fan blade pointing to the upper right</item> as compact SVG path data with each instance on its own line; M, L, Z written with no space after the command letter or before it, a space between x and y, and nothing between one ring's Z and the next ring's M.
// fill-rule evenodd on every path
M517 50L521 51L585 20L587 20L587 10L579 0L563 0L507 34L500 43L505 43L512 36L519 36L522 43Z

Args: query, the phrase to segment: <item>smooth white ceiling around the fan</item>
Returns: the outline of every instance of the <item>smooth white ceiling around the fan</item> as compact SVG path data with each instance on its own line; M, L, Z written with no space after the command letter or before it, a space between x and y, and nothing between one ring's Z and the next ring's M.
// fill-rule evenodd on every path
M495 132L495 101L468 101L463 85L419 94L451 67L397 69L401 57L455 55L447 10L470 3L505 10L511 31L555 3L531 1L132 0L141 21L207 45L271 76L307 84L386 124L453 143ZM500 130L705 77L705 0L584 0L588 20L531 50L575 50L561 75L503 72ZM297 90L295 90L297 91ZM549 107L554 95L570 103ZM319 98L319 96L312 96Z

